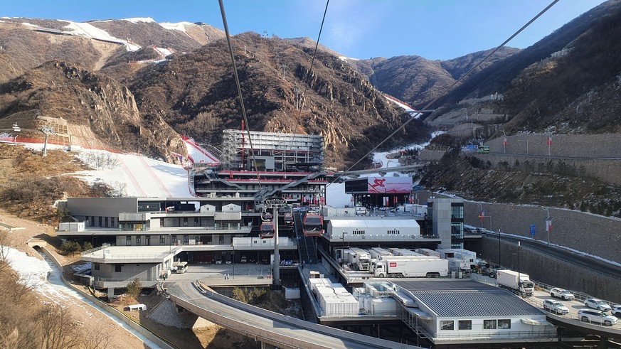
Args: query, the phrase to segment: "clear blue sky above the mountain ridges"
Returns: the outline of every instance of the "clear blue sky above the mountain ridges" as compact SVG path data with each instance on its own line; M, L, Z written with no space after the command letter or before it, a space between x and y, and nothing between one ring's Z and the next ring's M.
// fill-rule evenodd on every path
M3 1L0 16L90 21L151 17L223 29L217 0ZM561 0L508 45L526 48L603 0ZM551 0L331 0L320 42L351 58L420 55L447 60L494 48ZM224 0L235 35L317 39L324 0Z

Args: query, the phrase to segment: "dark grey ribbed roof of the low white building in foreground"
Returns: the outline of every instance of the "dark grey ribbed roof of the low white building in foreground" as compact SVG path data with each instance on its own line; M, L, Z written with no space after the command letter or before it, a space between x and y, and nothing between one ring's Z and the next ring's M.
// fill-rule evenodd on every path
M511 292L471 280L395 281L438 317L533 316L543 312Z

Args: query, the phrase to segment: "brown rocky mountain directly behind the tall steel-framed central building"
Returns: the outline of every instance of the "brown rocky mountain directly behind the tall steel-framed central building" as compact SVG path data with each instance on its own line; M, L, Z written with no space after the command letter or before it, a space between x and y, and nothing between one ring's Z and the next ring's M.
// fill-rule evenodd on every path
M322 134L328 166L349 166L409 117L339 58L278 38L245 33L233 40L250 129ZM219 144L221 130L240 129L241 110L225 41L177 55L132 81L139 109L181 133ZM306 95L304 95L306 92ZM303 97L304 95L304 97ZM386 146L423 141L412 122Z

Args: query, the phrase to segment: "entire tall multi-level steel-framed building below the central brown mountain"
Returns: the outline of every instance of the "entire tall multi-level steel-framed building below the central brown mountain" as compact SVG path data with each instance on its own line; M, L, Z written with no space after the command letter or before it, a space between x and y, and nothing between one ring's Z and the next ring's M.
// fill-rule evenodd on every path
M250 131L248 139L243 129L225 129L220 156L218 166L195 163L190 181L197 196L234 198L243 208L274 195L287 203L324 203L323 136Z

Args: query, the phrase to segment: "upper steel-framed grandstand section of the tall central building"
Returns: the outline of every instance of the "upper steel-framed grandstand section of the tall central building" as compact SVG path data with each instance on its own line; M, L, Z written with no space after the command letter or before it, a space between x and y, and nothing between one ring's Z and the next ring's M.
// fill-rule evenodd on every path
M223 166L255 171L319 171L324 162L324 136L225 129ZM254 149L254 153L253 153ZM253 160L254 159L254 160ZM256 161L256 163L255 163Z

